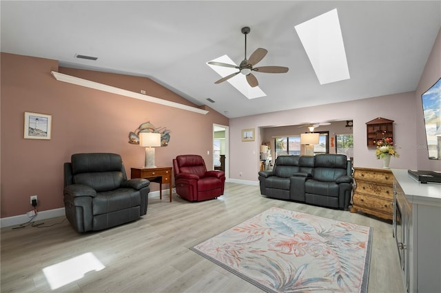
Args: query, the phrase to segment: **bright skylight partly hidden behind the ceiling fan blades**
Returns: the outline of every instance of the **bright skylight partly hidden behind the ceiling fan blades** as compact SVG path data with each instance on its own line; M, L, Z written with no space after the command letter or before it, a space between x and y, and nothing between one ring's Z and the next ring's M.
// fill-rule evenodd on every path
M218 58L210 60L210 61L216 61L216 62L237 65L227 55L223 55L221 57L218 57ZM234 72L238 72L237 68L229 68L229 67L210 65L210 64L207 64L207 65L210 68L212 68L212 70L216 71L220 75L220 77L226 77L229 74L232 74ZM246 79L245 75L243 75L243 74L239 73L236 75L236 77L232 77L231 79L228 79L227 81L224 81L224 82L229 82L231 85L234 86L234 88L236 88L236 90L241 92L248 99L256 99L256 98L266 96L265 92L263 92L263 90L260 90L260 88L258 86L254 87L254 88L249 86L247 79Z

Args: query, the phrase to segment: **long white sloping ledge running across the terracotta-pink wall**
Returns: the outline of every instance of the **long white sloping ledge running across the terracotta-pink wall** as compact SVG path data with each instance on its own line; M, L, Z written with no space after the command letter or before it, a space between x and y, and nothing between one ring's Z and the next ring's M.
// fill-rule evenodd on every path
M105 85L103 83L96 83L94 81L88 81L87 79L80 79L79 77L72 77L68 74L63 74L60 72L51 71L52 74L57 81L64 81L66 83L72 83L75 85L81 85L85 88L93 88L95 90L102 90L103 92L111 92L112 94L120 94L121 96L130 97L134 99L139 99L147 102L158 103L161 105L167 105L169 107L179 108L182 110L192 111L199 114L207 114L207 110L202 110L199 108L195 108L189 105L183 105L180 103L175 103L172 101L167 101L163 99L158 99L155 97L147 96L146 94L139 94L137 92L131 92L130 90L123 90L122 88L115 88L111 85Z

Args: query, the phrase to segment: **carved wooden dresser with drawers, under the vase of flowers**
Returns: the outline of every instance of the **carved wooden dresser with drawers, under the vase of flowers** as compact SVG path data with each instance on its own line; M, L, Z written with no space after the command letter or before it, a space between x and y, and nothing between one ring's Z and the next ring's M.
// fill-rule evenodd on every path
M359 210L382 219L393 219L393 174L390 169L353 168L356 189L351 212Z

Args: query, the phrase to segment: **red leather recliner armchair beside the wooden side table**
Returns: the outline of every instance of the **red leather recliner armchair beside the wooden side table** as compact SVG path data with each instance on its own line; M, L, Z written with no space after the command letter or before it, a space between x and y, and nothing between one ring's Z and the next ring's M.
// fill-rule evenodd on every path
M173 159L176 193L188 201L216 199L223 194L225 172L207 171L198 154L184 154Z

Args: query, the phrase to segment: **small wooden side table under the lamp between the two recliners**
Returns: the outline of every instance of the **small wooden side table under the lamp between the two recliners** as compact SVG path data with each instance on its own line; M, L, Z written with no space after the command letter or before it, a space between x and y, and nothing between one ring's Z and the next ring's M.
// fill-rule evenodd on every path
M130 178L145 178L159 183L159 199L163 199L163 183L169 185L170 203L172 202L172 167L130 168Z

